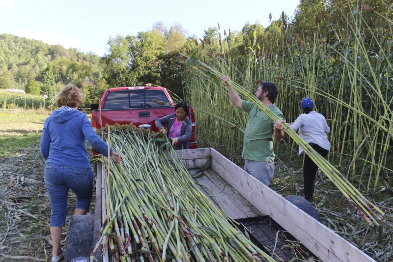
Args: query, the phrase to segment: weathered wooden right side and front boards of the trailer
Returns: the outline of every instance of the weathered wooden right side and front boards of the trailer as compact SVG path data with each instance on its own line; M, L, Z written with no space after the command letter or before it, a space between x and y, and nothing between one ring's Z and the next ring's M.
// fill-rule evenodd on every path
M212 157L212 169L262 214L299 239L321 261L374 261L350 242L316 221L299 207L259 182L213 148L177 151L186 168L200 168Z

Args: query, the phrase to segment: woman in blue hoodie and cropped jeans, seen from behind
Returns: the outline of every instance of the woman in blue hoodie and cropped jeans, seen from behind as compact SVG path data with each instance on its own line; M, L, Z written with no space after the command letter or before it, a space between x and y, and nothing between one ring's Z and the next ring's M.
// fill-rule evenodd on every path
M64 257L60 247L62 227L67 216L68 191L75 192L77 204L74 215L86 214L93 195L93 172L85 141L98 152L108 156L108 145L94 132L86 114L76 110L82 102L78 87L66 85L56 96L58 110L44 123L41 153L46 159L44 180L51 200L52 262ZM115 163L120 154L110 149Z

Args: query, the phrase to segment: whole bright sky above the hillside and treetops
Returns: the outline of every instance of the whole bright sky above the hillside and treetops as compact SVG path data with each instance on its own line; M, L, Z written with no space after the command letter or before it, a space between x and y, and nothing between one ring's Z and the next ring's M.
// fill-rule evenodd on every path
M240 31L258 21L265 27L284 11L290 17L299 0L0 0L0 33L60 44L102 56L109 37L137 35L163 22L203 36L217 27Z

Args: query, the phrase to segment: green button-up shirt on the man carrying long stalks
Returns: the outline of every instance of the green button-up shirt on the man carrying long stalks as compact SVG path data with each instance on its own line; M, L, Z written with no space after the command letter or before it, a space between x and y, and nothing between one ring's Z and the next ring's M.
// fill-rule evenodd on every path
M274 114L285 120L275 104L268 107ZM254 103L242 101L242 110L249 113L244 133L242 157L253 161L274 162L273 132L274 123Z

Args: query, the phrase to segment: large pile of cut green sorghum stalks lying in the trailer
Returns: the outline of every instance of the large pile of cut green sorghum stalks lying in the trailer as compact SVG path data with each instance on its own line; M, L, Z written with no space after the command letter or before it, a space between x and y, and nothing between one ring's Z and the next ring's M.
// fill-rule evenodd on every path
M275 261L197 189L165 136L133 125L102 134L122 158L103 160L107 219L93 254L102 244L110 261Z

